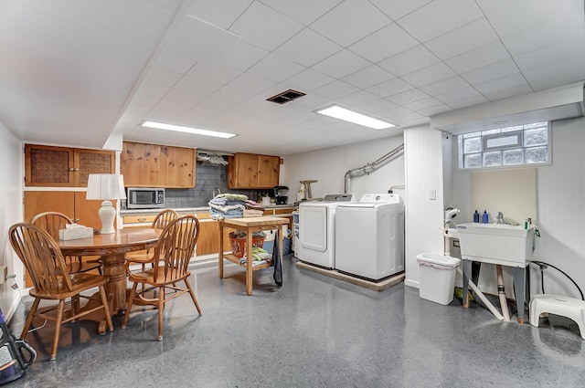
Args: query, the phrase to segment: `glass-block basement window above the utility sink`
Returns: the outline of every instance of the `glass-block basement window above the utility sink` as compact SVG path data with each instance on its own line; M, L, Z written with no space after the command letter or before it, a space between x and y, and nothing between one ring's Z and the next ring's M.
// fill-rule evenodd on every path
M550 164L549 139L548 121L465 133L457 137L459 168L485 169Z

